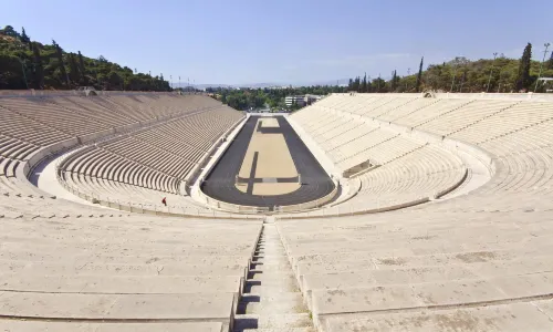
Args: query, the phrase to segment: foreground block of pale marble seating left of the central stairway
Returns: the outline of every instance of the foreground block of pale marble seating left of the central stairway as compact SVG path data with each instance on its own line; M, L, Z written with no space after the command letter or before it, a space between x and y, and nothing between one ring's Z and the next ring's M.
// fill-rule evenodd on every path
M2 317L34 318L14 325L25 331L69 331L75 320L118 323L98 331L138 331L127 320L148 320L145 331L157 321L176 321L164 331L228 329L259 222L96 216L2 218Z

